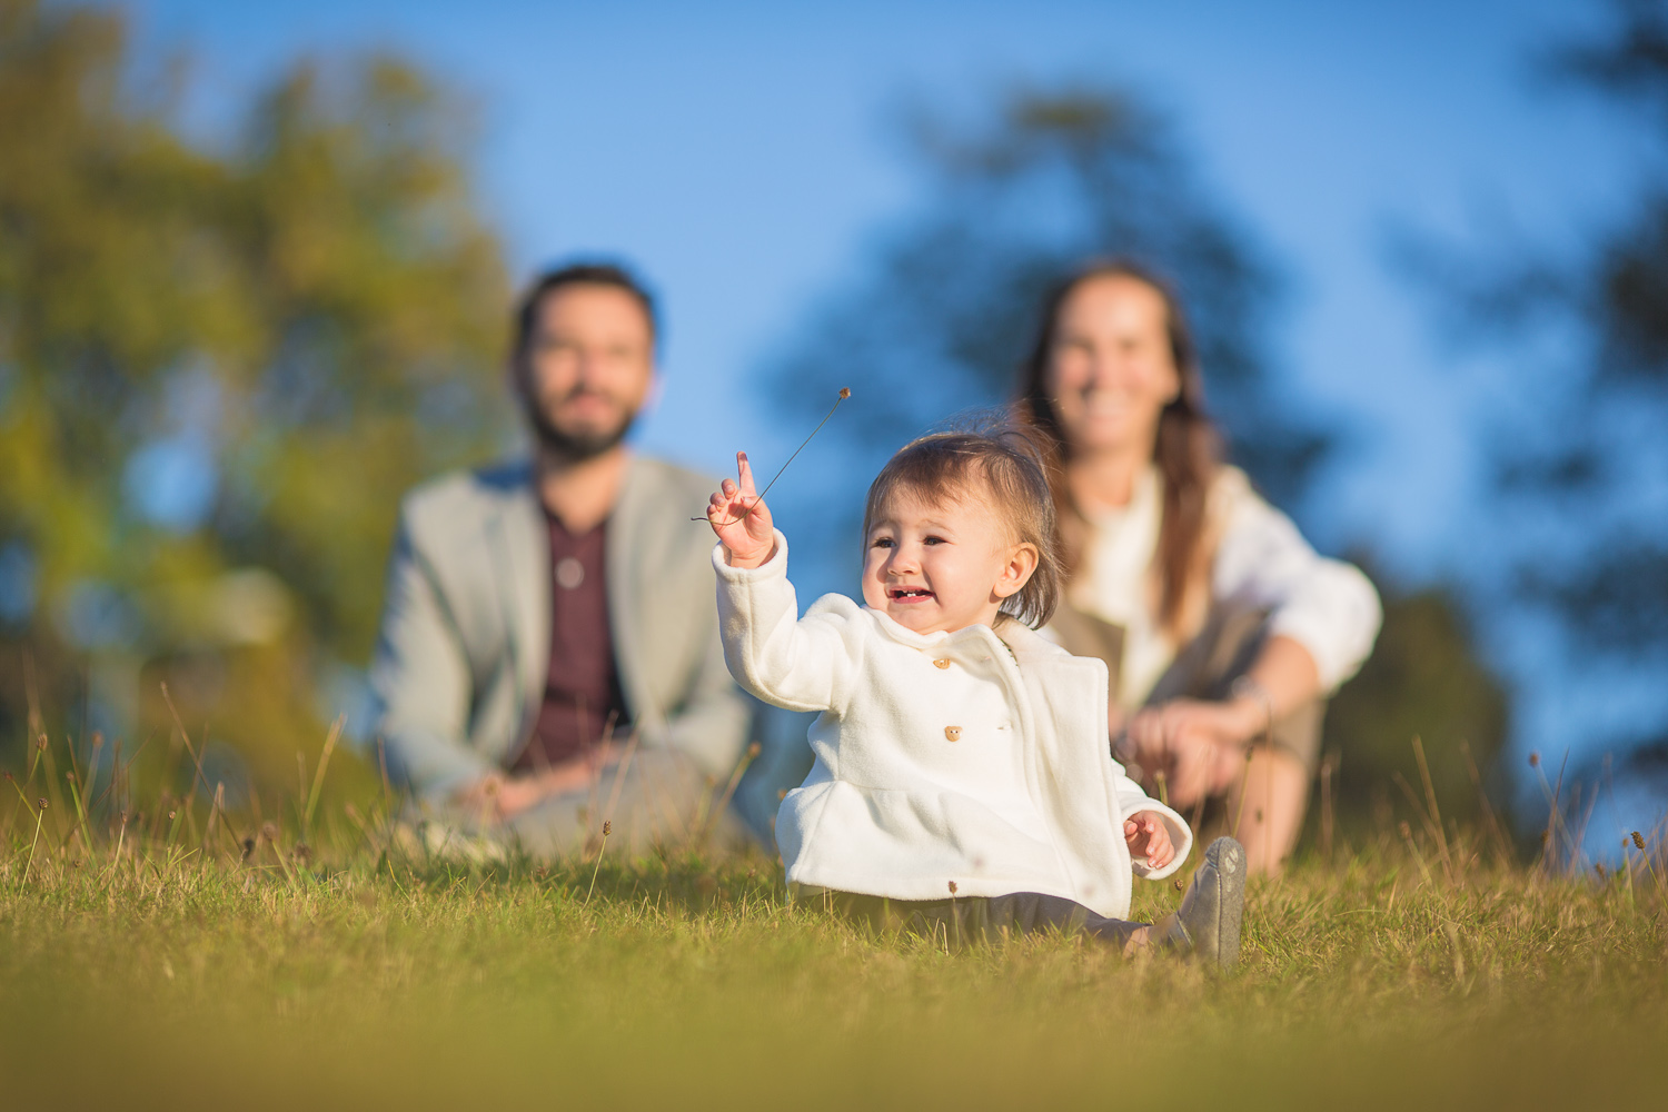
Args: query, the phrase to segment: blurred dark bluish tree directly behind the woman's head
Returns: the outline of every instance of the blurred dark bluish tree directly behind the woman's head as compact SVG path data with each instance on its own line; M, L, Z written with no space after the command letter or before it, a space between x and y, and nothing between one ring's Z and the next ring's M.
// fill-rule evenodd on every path
M957 408L1006 402L1048 288L1091 258L1134 257L1181 288L1234 457L1281 503L1299 497L1328 437L1268 373L1279 280L1164 117L1094 87L904 115L929 200L774 363L784 405L809 415L849 385L862 417L837 435L889 453Z

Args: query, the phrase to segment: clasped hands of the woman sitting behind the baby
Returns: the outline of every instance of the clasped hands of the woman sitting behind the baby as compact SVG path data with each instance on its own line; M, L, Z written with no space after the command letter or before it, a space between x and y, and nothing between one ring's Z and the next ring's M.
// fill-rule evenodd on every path
M1143 769L1164 770L1169 802L1193 807L1228 790L1261 729L1263 709L1256 702L1174 699L1136 714L1129 742Z

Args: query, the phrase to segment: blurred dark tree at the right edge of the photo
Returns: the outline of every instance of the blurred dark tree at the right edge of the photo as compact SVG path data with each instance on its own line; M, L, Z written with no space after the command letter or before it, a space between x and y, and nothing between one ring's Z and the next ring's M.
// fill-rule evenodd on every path
M1648 774L1668 767L1668 0L1608 8L1541 70L1638 122L1655 150L1631 202L1573 252L1414 242L1409 262L1446 325L1518 360L1490 427L1503 602L1556 630L1560 682L1626 685L1628 720L1571 740Z

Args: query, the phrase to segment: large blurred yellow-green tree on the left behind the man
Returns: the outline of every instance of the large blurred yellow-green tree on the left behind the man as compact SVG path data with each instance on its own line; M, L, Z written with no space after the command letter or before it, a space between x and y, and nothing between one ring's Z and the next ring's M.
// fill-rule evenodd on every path
M170 677L292 777L400 493L502 430L504 268L409 65L300 63L222 145L133 67L117 13L0 0L0 744L165 727Z

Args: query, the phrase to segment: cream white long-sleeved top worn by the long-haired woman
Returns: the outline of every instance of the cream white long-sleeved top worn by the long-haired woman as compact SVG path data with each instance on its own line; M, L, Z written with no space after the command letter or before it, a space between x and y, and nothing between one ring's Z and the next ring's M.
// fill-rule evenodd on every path
M1141 705L1176 659L1179 645L1154 614L1153 560L1163 518L1163 478L1148 467L1129 505L1089 515L1091 540L1071 604L1124 629L1116 699ZM1383 620L1378 592L1351 564L1314 552L1291 518L1271 507L1238 467L1211 483L1209 517L1219 537L1211 564L1211 604L1271 610L1269 632L1291 637L1314 657L1328 692L1366 660Z

